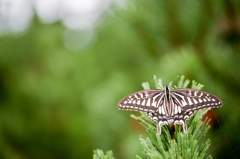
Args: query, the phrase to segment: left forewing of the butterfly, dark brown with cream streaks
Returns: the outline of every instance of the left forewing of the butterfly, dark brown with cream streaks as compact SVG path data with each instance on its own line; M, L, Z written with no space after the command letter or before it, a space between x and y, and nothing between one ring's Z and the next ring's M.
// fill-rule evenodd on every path
M163 98L162 90L142 90L122 98L118 103L118 109L155 113Z

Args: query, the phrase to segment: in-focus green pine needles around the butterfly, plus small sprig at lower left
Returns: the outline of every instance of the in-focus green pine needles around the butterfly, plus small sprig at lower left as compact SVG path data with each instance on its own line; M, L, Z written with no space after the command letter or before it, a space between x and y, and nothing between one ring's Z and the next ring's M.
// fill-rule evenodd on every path
M156 76L153 77L155 80L156 88L163 88L162 80L157 79ZM184 80L184 76L178 82L175 88L186 88L189 85L189 80ZM169 86L172 82L169 83ZM150 89L149 83L145 82L142 84L144 89ZM203 85L200 83L192 81L192 89L202 89ZM210 139L203 141L203 137L206 135L210 126L208 125L209 119L202 121L203 116L207 113L209 109L198 110L195 114L187 120L188 131L185 133L182 130L181 125L175 125L175 131L169 125L162 126L162 133L159 135L157 133L156 122L152 121L146 113L140 112L141 116L137 117L131 115L132 118L140 121L141 125L149 133L150 137L144 139L140 137L140 143L142 145L142 155L148 159L156 158L174 158L174 159L202 159L211 158L211 156L206 156L207 150L210 146ZM113 158L111 151L104 155L102 150L94 150L94 159L110 159ZM142 157L136 156L138 159Z

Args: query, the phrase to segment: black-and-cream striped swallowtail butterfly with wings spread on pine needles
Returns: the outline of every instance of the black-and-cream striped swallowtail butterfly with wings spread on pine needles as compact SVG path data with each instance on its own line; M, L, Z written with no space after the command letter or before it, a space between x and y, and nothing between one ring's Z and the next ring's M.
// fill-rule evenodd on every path
M146 112L157 122L161 135L161 126L168 124L180 124L187 132L186 120L196 110L222 105L221 99L211 93L188 88L170 90L165 86L164 90L148 89L127 95L119 101L118 109Z

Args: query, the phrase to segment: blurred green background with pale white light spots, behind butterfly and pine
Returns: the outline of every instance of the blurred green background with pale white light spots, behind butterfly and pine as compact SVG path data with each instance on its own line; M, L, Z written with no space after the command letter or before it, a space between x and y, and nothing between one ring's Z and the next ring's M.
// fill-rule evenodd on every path
M209 154L240 158L240 1L0 0L0 158L135 158L117 103L177 74L224 103Z

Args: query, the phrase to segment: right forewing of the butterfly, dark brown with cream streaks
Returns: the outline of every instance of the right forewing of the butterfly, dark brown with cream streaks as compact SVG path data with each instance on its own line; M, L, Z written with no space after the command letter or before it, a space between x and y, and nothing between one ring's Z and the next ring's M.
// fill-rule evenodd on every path
M171 97L175 105L187 112L223 105L217 96L196 89L174 89L171 91Z

